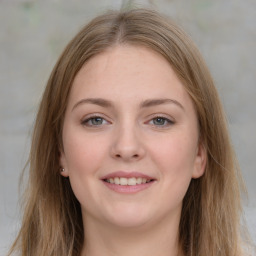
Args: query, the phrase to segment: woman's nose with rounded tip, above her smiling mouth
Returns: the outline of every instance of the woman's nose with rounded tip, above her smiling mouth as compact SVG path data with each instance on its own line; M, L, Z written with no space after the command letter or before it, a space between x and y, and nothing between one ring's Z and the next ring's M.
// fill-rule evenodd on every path
M145 156L142 137L135 127L120 127L115 131L111 156L122 161L138 161Z

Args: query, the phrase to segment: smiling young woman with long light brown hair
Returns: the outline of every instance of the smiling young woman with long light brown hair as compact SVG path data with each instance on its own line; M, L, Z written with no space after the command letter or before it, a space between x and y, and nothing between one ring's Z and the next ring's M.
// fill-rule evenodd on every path
M68 44L29 163L10 255L242 255L242 179L218 94L157 12L109 12Z

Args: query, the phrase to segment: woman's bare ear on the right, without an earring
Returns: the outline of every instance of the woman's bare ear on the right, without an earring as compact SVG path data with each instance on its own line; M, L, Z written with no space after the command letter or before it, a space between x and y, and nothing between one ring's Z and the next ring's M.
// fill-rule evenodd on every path
M199 142L197 146L192 178L197 179L204 174L206 162L207 162L207 154L206 154L205 146L203 143Z

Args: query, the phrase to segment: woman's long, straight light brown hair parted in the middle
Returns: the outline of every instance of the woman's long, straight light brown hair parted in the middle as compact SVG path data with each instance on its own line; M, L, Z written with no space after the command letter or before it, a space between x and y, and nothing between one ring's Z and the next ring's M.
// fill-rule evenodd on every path
M186 256L240 256L241 174L211 75L190 38L155 11L111 11L92 20L68 44L47 83L29 158L24 217L10 254L79 256L84 242L80 205L59 173L69 92L88 59L118 44L153 49L183 82L198 115L207 151L205 174L183 200L180 245Z

